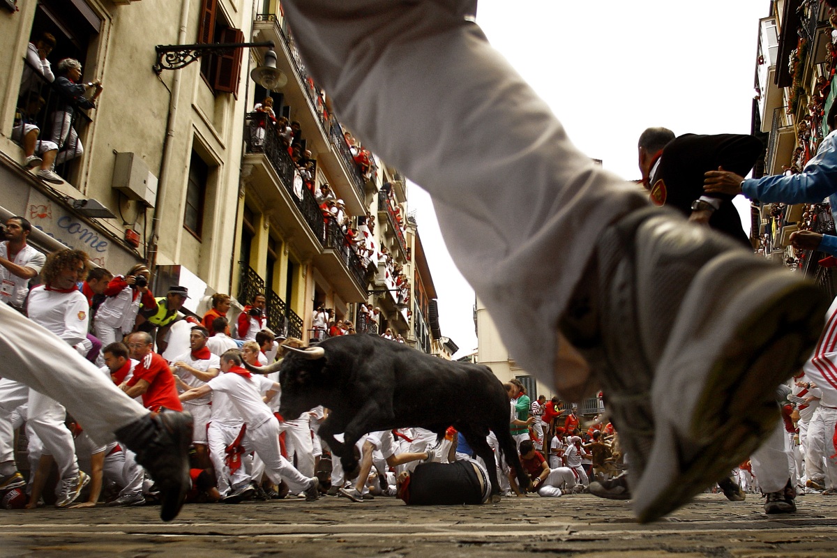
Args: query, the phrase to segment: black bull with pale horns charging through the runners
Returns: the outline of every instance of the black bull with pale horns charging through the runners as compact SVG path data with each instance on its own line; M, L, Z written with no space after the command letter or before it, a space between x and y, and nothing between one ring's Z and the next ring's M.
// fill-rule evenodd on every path
M357 468L353 448L366 433L423 427L440 438L453 425L488 463L492 494L500 492L500 485L485 439L489 430L521 488L529 485L509 432L509 397L488 366L445 361L377 335L331 337L306 351L286 351L277 365L248 369L260 374L280 370L285 420L317 405L330 410L320 438L347 472ZM334 438L338 433L344 434L343 442Z

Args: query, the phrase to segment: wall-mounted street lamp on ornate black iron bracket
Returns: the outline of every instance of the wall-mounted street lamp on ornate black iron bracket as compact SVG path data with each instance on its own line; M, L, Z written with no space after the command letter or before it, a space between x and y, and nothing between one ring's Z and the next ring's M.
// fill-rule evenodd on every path
M286 83L288 78L282 71L276 68L276 53L273 51L273 41L264 43L212 43L212 44L158 44L157 63L152 66L154 73L160 75L164 69L181 69L203 54L227 54L235 49L251 49L253 47L268 47L270 50L264 54L264 65L253 69L250 77L264 87L266 90L279 89Z

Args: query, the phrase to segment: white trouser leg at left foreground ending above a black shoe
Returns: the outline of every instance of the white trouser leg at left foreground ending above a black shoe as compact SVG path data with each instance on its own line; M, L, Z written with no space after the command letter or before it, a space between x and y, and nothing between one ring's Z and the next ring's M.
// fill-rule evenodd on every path
M0 363L0 376L64 405L96 443L115 441L114 431L148 415L64 340L8 305L0 305Z

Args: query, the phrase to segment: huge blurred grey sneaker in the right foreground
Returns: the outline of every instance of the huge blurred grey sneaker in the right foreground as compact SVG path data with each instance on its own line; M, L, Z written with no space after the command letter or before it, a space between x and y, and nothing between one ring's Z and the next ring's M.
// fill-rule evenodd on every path
M598 280L579 285L562 334L595 371L630 455L634 513L655 520L773 432L775 389L809 356L829 300L665 208L606 228L595 258Z

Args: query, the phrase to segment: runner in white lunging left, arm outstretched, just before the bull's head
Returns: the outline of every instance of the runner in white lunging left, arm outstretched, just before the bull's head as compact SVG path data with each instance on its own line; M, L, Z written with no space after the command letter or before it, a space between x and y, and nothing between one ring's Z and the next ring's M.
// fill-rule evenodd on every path
M306 500L318 499L320 483L316 477L306 478L282 457L279 447L279 422L264 403L256 381L241 367L241 363L238 351L223 353L221 371L224 373L201 387L182 393L180 400L191 401L211 392L226 393L247 425L244 446L259 453L264 466L280 474L291 492L304 491Z

